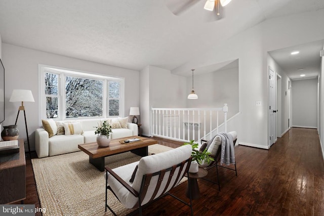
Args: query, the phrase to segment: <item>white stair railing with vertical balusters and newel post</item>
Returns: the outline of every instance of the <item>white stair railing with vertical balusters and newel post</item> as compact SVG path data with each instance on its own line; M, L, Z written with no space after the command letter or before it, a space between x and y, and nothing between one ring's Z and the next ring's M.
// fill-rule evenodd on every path
M151 108L151 134L182 142L212 139L221 125L227 132L227 111L227 104L223 108Z

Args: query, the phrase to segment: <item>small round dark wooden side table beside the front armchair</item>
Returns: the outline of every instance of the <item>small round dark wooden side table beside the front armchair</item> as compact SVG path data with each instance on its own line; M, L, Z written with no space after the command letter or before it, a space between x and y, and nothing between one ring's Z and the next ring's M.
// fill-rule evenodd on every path
M189 198L189 187L190 187L191 199L199 199L200 191L199 191L197 179L203 178L207 176L207 174L208 174L207 169L203 167L199 167L198 172L189 172L189 176L187 176L187 174L185 175L186 177L189 178L187 191L186 191L186 196L188 198Z

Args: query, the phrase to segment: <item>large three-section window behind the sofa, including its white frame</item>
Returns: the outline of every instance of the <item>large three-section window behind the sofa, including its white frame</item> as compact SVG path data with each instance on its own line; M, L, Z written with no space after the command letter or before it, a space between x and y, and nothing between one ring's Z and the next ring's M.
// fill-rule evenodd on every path
M123 78L39 68L39 121L123 116Z

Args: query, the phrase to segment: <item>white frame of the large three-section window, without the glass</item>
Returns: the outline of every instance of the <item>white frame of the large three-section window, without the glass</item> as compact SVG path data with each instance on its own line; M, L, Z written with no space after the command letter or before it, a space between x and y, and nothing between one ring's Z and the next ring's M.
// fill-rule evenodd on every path
M109 81L119 81L119 117L124 117L125 114L125 78L116 77L110 75L96 74L86 71L79 71L67 68L61 68L49 65L38 65L38 124L42 125L42 119L47 119L46 115L46 97L45 94L45 73L54 73L58 75L58 111L59 117L53 118L53 120L82 120L82 119L100 119L107 117L117 117L109 116ZM77 78L87 78L103 81L103 115L98 117L76 117L76 118L66 118L66 93L65 93L65 80L66 76L77 77Z

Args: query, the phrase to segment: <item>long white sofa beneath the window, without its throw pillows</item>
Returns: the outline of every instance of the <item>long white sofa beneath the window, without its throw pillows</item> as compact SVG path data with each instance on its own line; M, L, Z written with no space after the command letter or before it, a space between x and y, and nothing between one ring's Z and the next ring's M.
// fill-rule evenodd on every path
M95 130L98 123L103 119L79 120L82 124L82 134L54 135L49 138L49 133L44 128L37 128L35 131L35 150L37 156L47 157L58 154L65 154L80 151L78 144L96 142ZM68 122L68 121L62 121ZM138 135L138 126L134 123L127 123L127 128L112 129L111 139L131 137Z

